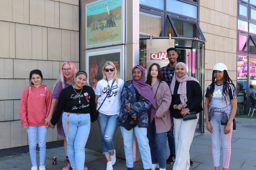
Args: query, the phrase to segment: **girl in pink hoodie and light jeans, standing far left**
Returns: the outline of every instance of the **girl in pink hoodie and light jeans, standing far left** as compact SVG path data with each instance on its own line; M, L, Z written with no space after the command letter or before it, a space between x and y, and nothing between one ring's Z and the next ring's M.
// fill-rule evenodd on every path
M44 160L46 154L46 137L49 126L45 126L44 119L47 118L51 101L51 90L42 85L43 75L40 70L32 70L29 75L30 86L26 87L21 96L20 121L23 128L27 129L29 138L29 153L32 163L31 170L37 170L36 144L38 131L38 145L40 148L39 170L45 170Z

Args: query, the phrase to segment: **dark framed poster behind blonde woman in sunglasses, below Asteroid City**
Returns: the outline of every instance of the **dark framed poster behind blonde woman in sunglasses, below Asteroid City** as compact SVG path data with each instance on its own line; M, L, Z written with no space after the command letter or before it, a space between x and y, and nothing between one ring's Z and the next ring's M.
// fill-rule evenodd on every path
M86 50L87 83L94 90L103 77L102 69L106 61L112 61L116 66L117 77L124 79L124 45Z

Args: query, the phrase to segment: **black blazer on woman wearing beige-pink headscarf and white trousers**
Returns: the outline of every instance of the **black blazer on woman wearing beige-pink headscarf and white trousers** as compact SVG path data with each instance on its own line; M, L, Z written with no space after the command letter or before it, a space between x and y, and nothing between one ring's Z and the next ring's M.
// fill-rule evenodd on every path
M180 110L174 109L174 105L180 104L180 95L177 94L179 88L178 81L175 82L175 87L172 95L172 103L170 106L171 114L174 118L179 119L182 118L180 115ZM187 106L190 111L195 111L196 113L199 113L203 110L201 106L201 102L203 100L202 90L200 85L196 81L187 81Z

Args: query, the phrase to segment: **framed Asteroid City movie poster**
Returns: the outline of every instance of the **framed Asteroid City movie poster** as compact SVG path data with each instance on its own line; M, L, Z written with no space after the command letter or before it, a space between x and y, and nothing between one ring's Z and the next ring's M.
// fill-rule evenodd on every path
M124 0L98 0L85 9L86 49L124 44Z

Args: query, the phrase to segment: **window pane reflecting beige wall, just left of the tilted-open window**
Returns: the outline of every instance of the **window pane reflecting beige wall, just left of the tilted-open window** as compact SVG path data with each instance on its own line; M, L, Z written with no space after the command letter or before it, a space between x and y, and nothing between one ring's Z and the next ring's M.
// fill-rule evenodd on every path
M162 31L162 17L140 12L140 34L159 37Z

